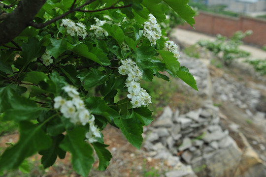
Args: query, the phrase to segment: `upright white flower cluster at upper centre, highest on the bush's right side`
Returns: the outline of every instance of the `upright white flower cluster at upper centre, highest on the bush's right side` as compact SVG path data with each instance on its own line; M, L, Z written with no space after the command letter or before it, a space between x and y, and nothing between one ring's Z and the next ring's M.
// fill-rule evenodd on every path
M160 37L162 36L162 30L161 27L157 24L156 18L152 14L149 14L149 17L149 21L144 22L143 24L143 35L149 39L151 45L155 45L156 40L160 39Z

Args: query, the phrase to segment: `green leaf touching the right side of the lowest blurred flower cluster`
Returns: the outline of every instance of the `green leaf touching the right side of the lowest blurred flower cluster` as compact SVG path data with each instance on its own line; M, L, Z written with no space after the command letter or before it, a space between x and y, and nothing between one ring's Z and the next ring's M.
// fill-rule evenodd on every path
M90 97L85 100L90 112L95 115L101 115L109 122L114 118L119 118L119 114L112 108L106 105L105 101L100 97Z

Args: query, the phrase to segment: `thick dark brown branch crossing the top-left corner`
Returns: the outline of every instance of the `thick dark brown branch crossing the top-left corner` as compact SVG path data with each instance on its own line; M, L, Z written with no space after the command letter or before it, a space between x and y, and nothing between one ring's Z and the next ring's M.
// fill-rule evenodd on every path
M19 35L41 9L46 0L20 0L16 9L0 23L0 46Z

